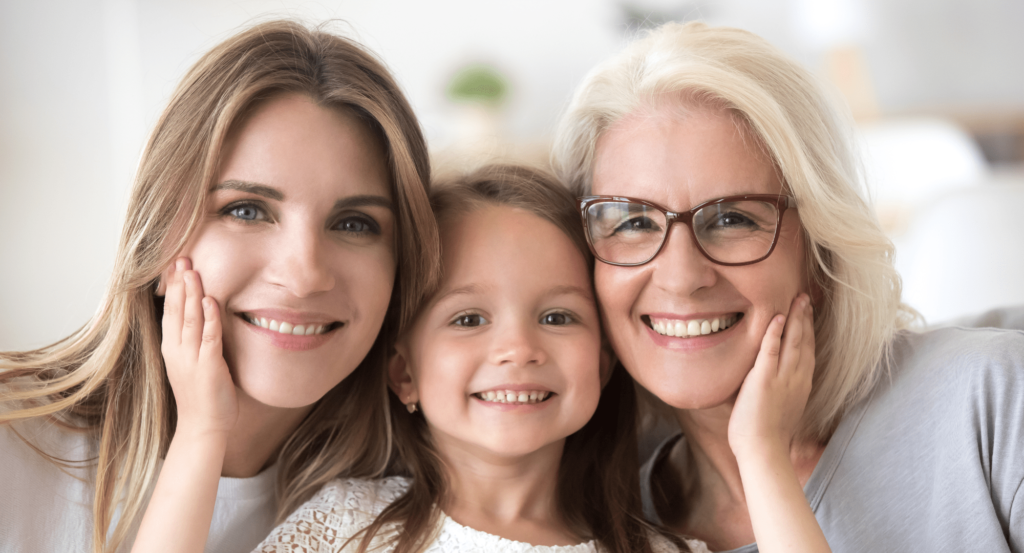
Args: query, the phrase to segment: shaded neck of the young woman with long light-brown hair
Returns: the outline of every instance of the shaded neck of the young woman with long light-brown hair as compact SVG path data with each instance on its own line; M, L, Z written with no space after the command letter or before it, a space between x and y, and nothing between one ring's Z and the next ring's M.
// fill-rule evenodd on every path
M274 408L234 389L239 399L239 422L227 438L221 476L248 478L270 466L278 452L312 406Z

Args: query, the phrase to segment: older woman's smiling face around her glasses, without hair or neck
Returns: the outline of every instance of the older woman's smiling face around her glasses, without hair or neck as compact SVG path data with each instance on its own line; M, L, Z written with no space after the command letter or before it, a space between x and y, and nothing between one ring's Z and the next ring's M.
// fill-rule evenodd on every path
M627 196L673 211L726 196L780 194L782 182L757 141L722 111L678 105L627 116L598 140L594 194ZM649 263L597 262L595 280L615 353L645 388L677 409L730 401L754 366L768 322L807 291L796 210L787 210L768 259L710 261L682 224ZM688 338L654 330L681 322L735 320Z

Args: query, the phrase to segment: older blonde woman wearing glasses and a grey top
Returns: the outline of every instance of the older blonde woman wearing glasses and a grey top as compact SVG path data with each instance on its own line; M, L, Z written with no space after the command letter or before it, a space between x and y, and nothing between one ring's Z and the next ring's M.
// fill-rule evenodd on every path
M805 70L701 24L577 92L555 164L584 197L605 328L681 431L644 468L646 515L757 551L729 420L768 322L807 292L817 363L790 455L833 548L1024 551L1024 333L902 330L849 134Z

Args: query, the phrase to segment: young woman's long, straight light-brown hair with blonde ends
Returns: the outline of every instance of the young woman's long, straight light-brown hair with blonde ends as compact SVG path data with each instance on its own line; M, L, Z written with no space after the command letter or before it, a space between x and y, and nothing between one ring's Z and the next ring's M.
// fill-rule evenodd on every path
M393 336L412 318L410 306L438 276L426 145L409 102L371 53L318 29L265 23L213 48L178 85L142 157L114 274L94 318L49 347L0 354L0 399L13 407L0 414L0 423L50 417L99 438L96 552L126 539L174 429L160 353L158 276L202 220L225 135L255 104L284 92L347 110L381 137L396 204L399 268L370 354L282 446L279 518L331 478L373 477L387 466L391 442L378 437L390 436L384 363Z

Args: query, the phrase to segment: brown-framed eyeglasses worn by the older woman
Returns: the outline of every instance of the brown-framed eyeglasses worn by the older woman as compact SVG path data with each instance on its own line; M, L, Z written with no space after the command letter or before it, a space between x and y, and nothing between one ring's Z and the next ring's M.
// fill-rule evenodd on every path
M579 199L587 242L609 265L642 265L662 251L669 228L681 222L700 253L719 265L750 265L775 249L782 214L797 209L790 196L729 196L676 213L635 198L587 196Z

